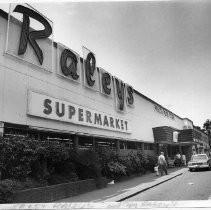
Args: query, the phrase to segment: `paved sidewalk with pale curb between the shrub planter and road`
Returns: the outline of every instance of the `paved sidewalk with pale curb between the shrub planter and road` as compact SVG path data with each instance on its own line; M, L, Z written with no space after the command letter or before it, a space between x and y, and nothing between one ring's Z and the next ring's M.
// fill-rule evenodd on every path
M177 177L187 171L187 168L168 169L168 175L156 176L155 173L149 173L140 177L135 177L127 181L108 184L106 188L94 190L88 193L80 194L74 197L65 198L58 202L116 202L122 201L132 195L145 191L174 177Z

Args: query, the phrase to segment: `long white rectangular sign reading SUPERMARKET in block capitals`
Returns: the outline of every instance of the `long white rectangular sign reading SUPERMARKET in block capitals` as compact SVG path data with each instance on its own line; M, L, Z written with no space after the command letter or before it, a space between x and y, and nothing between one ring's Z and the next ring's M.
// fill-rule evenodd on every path
M28 114L73 124L131 133L130 121L29 91Z

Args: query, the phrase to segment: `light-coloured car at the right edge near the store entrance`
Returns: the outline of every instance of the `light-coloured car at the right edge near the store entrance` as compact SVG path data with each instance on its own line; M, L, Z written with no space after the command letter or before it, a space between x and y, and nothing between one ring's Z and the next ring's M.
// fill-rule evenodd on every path
M188 168L190 171L201 168L211 169L211 159L206 154L193 155L188 162Z

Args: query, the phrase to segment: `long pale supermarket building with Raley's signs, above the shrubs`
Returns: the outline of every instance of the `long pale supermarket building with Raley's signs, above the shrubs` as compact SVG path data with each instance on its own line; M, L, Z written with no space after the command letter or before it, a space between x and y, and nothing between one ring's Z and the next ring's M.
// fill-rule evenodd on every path
M14 17L20 15L21 21ZM43 31L31 28L35 19ZM207 135L49 38L52 22L29 6L0 10L0 135L59 140L76 149L165 151L169 157L209 151Z

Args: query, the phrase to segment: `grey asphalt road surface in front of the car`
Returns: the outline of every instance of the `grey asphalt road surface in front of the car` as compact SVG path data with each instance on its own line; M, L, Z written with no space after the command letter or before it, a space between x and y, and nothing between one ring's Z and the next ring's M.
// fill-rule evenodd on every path
M168 175L167 175L168 176ZM125 201L210 200L211 171L187 171Z

